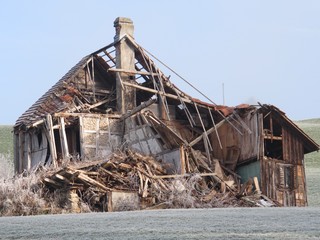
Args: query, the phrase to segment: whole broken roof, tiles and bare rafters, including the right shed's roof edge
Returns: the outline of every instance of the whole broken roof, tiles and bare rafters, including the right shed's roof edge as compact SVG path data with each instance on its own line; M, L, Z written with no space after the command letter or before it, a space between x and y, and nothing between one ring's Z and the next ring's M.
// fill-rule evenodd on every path
M135 49L136 71L130 72L125 69L116 68L115 45L120 41L128 41L133 45ZM115 84L116 74L119 72L125 72L129 75L136 76L134 83L123 82L123 84L135 87L137 91L139 91L137 99L139 99L140 103L149 100L152 95L160 93L161 95L166 96L166 99L168 99L166 101L168 101L168 103L176 105L181 104L182 106L189 104L191 107L195 108L200 106L207 110L211 109L216 112L216 117L219 117L220 119L232 114L235 110L252 108L252 106L247 104L241 104L236 107L220 106L216 105L210 99L211 103L207 103L199 99L192 98L171 83L169 77L165 76L165 74L155 65L151 57L146 53L146 50L137 44L131 36L124 35L121 39L114 41L113 43L82 58L80 62L71 68L67 74L65 74L18 118L14 128L27 129L36 126L37 123L43 121L47 114L54 114L62 111L90 112L90 109L108 101L108 97L106 97L106 95L112 95L112 92L107 90L110 88L109 86L106 87L103 93L101 93L103 97L97 97L97 99L91 100L87 99L85 91L80 92L79 90L81 89L77 86L77 79L79 75L85 75L87 78L85 73L88 73L89 79L86 79L82 88L82 90L86 90L85 88L88 88L87 85L90 82L94 82L99 78L103 79L103 84L107 84L107 82ZM97 93L97 95L98 94L99 93ZM82 101L79 101L80 104L76 101L77 99L82 99ZM272 105L262 105L261 107L262 111L273 111L282 124L289 126L298 137L303 139L306 153L319 150L319 145L304 133L293 121L291 121L284 112Z

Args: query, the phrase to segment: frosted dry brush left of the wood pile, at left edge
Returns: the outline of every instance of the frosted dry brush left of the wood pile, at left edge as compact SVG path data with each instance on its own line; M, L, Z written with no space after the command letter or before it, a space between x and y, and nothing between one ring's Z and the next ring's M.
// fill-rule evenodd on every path
M0 178L0 216L27 216L69 213L64 190L50 192L41 183L43 173ZM81 212L89 212L80 204Z

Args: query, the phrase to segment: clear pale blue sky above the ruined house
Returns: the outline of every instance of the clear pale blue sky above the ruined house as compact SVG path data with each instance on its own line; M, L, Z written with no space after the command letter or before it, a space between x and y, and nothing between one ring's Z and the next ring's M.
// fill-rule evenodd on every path
M216 104L320 118L320 1L2 1L0 125L13 125L131 18L135 40ZM207 101L175 76L171 81Z

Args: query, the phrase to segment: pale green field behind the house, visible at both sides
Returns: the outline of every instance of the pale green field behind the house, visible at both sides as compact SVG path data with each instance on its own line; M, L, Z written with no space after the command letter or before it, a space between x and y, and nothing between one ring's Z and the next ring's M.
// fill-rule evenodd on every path
M320 119L297 121L314 141L320 143ZM0 126L0 177L6 167L11 167L13 162L12 126ZM320 206L320 153L313 152L305 155L306 175L308 186L309 206Z

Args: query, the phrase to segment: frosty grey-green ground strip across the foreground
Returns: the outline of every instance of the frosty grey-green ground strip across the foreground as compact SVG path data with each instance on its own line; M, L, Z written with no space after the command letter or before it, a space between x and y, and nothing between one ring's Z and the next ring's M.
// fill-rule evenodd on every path
M179 209L0 218L0 239L319 239L320 208Z

